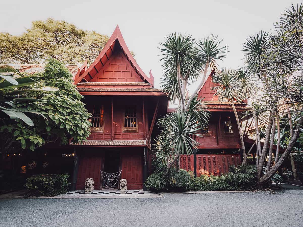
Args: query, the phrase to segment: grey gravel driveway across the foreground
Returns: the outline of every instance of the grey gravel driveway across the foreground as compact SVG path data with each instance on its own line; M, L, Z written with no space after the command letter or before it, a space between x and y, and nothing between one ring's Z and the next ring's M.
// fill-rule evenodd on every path
M303 226L303 190L146 199L0 199L1 226Z

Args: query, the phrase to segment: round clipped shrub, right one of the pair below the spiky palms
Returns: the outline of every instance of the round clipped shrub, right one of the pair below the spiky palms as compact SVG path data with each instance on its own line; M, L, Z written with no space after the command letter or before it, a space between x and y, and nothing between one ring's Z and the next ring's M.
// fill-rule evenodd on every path
M168 182L173 189L185 191L191 183L191 176L184 169L180 169L178 172L176 169L171 169Z

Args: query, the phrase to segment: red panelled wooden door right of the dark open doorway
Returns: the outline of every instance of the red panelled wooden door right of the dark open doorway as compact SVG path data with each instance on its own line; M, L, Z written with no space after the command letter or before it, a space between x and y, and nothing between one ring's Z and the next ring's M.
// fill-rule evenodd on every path
M121 157L121 179L127 180L127 189L143 189L143 148L123 150Z

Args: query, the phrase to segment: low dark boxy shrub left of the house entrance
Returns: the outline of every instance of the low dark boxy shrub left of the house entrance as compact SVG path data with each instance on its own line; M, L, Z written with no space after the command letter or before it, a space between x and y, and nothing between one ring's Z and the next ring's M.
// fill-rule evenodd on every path
M44 175L39 174L27 179L25 187L29 190L25 196L57 196L68 192L69 175L54 174Z

